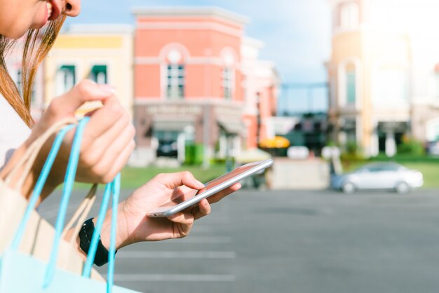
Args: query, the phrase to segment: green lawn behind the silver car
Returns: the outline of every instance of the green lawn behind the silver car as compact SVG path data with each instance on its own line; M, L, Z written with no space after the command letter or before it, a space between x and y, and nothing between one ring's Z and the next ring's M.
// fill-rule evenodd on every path
M355 170L356 168L360 168L370 162L344 162L343 170L344 172L349 172L351 170ZM431 188L439 188L439 163L435 161L426 161L426 162L398 162L406 168L414 169L420 171L424 175L424 186L423 188L431 189Z

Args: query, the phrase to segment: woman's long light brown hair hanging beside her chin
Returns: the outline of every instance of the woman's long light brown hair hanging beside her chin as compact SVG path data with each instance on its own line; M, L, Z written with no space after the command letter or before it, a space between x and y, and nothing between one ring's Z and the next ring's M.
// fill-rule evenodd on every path
M58 20L48 22L43 29L29 29L27 32L22 54L22 97L6 68L5 55L13 48L15 41L0 35L0 94L29 127L34 124L30 104L36 71L55 43L64 21L65 15L62 15Z

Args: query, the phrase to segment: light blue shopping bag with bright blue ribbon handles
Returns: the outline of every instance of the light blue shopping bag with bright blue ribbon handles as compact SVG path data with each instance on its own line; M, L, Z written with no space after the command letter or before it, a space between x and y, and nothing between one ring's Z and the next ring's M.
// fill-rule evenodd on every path
M4 250L0 259L0 292L133 292L129 289L123 289L121 287L113 286L113 272L114 272L114 246L116 237L116 213L117 202L119 199L120 177L116 177L115 181L111 184L107 184L104 191L104 199L102 200L102 206L100 214L95 227L95 233L93 234L92 243L90 244L90 250L88 259L85 266L83 266L83 274L78 275L67 271L57 264L59 259L58 255L62 250L60 247L63 243L62 230L65 222L65 215L67 213L67 205L69 203L69 196L72 192L72 186L74 183L74 177L76 175L76 166L79 160L79 147L81 145L81 135L83 128L86 125L85 118L79 122L74 137L74 143L72 145L72 151L69 158L69 164L67 165L67 172L65 177L64 189L62 192L62 199L60 203L60 210L58 211L58 218L55 224L55 231L53 231L53 244L50 250L50 257L48 261L39 259L33 254L26 254L19 250L20 243L22 243L27 231L27 224L32 221L32 217L35 216L34 206L36 200L39 198L39 194L44 186L48 172L50 171L51 164L53 163L56 153L56 149L62 141L62 136L69 128L61 130L60 134L56 137L53 144L53 149L50 151L46 165L41 172L38 182L36 183L34 193L32 194L29 204L22 214L22 219L18 228L13 236L11 245ZM70 128L72 125L70 126ZM6 182L7 183L7 182ZM6 184L7 185L7 184ZM110 194L113 196L113 219L112 219L112 238L111 247L109 250L109 272L108 282L102 282L100 280L93 280L90 278L93 271L93 259L94 253L97 249L97 238L99 237L100 229L102 229L102 222L109 203ZM87 210L87 209L84 209ZM76 212L78 216L81 212ZM81 218L81 216L79 216ZM41 222L41 218L40 222ZM39 235L38 231L34 233ZM95 244L94 244L95 243ZM50 245L50 240L46 241L46 246ZM71 246L72 247L72 246ZM72 247L73 248L73 247ZM93 255L92 255L93 254ZM78 255L76 253L76 255Z

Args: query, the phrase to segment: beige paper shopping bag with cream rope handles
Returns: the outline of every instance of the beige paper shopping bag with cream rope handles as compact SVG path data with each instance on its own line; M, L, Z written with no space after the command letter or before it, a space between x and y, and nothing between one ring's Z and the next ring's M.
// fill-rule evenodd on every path
M55 142L53 143L53 148L50 151L45 168L41 172L42 177L40 178L40 182L42 182L44 179L43 177L47 178L48 172L50 171L49 159L55 159L56 154L58 154L56 149L59 149L62 138L67 131L74 127L76 123L78 123L76 119L65 119L53 125L43 135L41 135L39 139L36 139L36 141L29 146L27 152L22 156L20 161L15 164L14 168L8 172L6 178L4 180L0 179L0 255L7 247L11 245L15 231L17 231L22 216L28 206L28 202L26 198L20 194L20 190L25 181L27 173L29 172L30 168L32 168L36 155L38 155L41 147L43 147L43 144L47 142L50 136L60 132L57 139L55 139ZM66 125L69 126L66 128ZM53 163L53 161L51 163ZM21 174L18 174L19 170L21 170ZM43 174L43 172L46 172L46 174ZM18 181L15 185L11 184L12 179L17 175L19 178ZM95 192L96 186L94 185L80 205L82 210L79 210L79 212L82 213L79 214L76 212L72 218L72 220L77 219L75 229L76 235L77 231L80 229L81 223L83 223L84 218L87 216L87 213L90 210L90 204L93 204ZM38 198L38 196L36 196L36 198ZM84 210L84 208L86 209ZM79 219L79 217L81 219ZM65 233L68 229L72 228L74 224L72 220L69 222L69 225L66 226L63 236L65 236ZM23 232L23 240L20 243L19 251L24 252L25 254L32 254L38 259L48 261L51 248L48 244L53 240L54 231L53 226L51 226L45 219L41 218L40 215L32 209L29 213L28 224ZM74 239L72 238L70 242L65 240L61 241L60 254L62 257L58 259L58 266L68 271L81 273L83 269L83 257L77 252L76 247L72 245L73 240ZM94 270L92 272L92 278L104 280L99 273Z

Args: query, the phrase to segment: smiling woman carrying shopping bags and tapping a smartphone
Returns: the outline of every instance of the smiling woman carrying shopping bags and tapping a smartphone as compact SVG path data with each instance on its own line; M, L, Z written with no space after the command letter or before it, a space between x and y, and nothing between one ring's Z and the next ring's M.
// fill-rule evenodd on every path
M41 120L38 123L32 121L29 107L36 69L53 45L65 18L78 15L80 6L81 0L0 0L0 175L7 173L29 144L50 125L62 118L73 117L76 109L88 101L101 101L103 107L89 114L90 122L84 133L76 177L79 182L111 181L126 164L135 147L135 130L130 117L114 95L113 88L92 81L81 81L65 95L55 98ZM43 37L37 38L39 34ZM6 70L4 56L14 41L22 37L25 38L25 46L22 64L23 97L20 97ZM62 182L72 136L70 133L63 142L40 202ZM47 153L48 149L41 151L27 178L22 190L25 196L32 192ZM184 191L201 189L203 184L190 172L157 175L119 204L117 249L140 241L187 236L194 220L210 213L209 202L216 202L241 186L235 184L210 197L209 202L202 200L197 207L172 217L146 217L147 210L169 201L176 187ZM104 248L109 247L108 229L109 223L106 220L101 233ZM78 237L78 245L80 241ZM80 247L79 251L84 253Z

